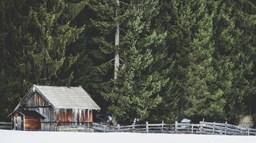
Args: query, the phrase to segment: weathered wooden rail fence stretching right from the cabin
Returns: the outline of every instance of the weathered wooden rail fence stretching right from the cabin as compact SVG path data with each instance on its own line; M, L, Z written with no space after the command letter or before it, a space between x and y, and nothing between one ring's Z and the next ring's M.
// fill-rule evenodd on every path
M140 132L140 133L186 133L211 135L256 135L256 129L245 129L228 123L162 123L135 124L128 126L107 126L98 123L92 124L95 132Z

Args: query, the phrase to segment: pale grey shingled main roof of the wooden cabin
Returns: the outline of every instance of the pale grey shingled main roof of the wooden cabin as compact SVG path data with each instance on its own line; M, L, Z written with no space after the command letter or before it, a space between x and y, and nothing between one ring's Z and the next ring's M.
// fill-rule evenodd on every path
M91 96L82 87L52 87L33 85L36 91L55 108L84 108L100 110L101 108L92 100ZM32 88L34 90L34 88Z

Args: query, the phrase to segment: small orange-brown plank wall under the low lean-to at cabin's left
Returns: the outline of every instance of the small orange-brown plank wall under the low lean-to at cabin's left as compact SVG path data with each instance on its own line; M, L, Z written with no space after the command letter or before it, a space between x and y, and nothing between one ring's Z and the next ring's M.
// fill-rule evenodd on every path
M41 121L36 117L25 117L24 126L24 130L40 130Z

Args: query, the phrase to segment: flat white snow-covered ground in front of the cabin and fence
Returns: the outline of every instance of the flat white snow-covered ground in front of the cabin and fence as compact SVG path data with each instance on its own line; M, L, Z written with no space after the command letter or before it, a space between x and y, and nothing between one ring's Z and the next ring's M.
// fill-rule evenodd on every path
M256 143L256 136L142 134L129 132L28 132L0 130L0 143Z

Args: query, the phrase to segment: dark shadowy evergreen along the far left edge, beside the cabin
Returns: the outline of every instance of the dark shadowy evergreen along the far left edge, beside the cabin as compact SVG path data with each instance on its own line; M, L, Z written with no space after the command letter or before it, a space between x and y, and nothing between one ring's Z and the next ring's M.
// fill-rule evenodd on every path
M23 79L17 78L15 56L20 40L20 21L24 18L19 14L23 2L0 1L0 120L8 120L7 115L17 105L20 93L24 93Z

